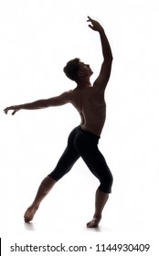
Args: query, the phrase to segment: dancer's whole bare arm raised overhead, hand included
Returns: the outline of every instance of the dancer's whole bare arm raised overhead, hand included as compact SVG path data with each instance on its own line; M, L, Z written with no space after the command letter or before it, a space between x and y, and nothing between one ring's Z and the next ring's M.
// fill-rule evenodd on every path
M95 80L93 86L98 86L99 88L105 89L111 75L111 63L112 63L111 46L108 41L108 38L105 35L103 27L101 27L101 24L98 21L91 19L90 16L88 16L88 18L89 18L88 21L91 23L89 27L92 30L99 32L100 34L101 50L102 50L102 56L103 56L100 75L97 78L97 80Z

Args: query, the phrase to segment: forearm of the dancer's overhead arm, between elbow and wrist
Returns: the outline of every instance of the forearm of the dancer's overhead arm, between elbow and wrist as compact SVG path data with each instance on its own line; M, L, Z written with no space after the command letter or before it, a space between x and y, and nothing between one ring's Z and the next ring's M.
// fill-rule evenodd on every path
M112 59L111 46L110 46L109 40L104 32L104 29L101 28L99 33L100 33L100 37L101 37L101 49L102 49L103 58L104 58L104 60Z

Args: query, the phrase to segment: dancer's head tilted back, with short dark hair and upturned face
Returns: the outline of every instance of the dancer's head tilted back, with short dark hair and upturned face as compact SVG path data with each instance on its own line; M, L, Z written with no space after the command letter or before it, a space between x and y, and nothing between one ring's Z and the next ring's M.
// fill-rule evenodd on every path
M70 80L74 80L76 82L90 78L93 73L90 69L90 65L84 64L79 58L69 60L63 70Z

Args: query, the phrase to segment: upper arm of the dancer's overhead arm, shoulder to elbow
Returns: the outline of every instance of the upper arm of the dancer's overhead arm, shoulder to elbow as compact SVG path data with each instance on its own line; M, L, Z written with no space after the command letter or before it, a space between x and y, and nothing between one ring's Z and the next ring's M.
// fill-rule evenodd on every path
M105 89L111 75L112 59L104 60L101 65L101 71L98 78L94 81L93 87Z

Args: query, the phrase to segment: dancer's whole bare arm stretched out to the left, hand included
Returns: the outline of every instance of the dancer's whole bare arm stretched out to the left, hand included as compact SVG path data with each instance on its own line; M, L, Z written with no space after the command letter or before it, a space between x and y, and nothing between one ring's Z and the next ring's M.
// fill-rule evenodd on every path
M5 108L4 112L5 114L7 114L8 111L13 111L12 115L14 115L16 112L20 110L39 110L39 109L45 109L48 107L56 107L56 106L61 106L66 103L69 103L70 99L71 99L71 91L66 91L60 94L59 96L52 97L46 100L38 100L30 103L7 107Z

